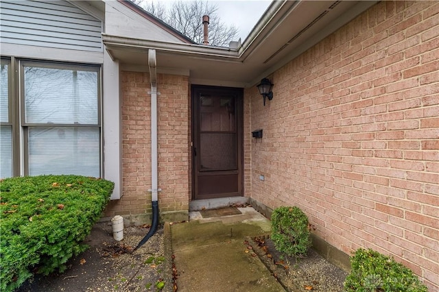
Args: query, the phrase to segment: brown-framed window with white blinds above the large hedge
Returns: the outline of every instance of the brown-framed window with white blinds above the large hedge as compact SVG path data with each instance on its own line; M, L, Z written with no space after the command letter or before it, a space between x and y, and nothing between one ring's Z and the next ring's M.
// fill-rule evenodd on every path
M20 119L16 138L20 151L11 160L21 160L19 171L3 175L1 128L1 177L14 175L78 174L101 176L100 68L43 62L18 61L20 106L12 109ZM14 86L7 82L8 86ZM2 63L3 103L3 63ZM8 87L7 86L7 87ZM6 101L5 101L6 102ZM8 104L7 104L8 105ZM9 102L10 105L10 102ZM9 106L10 108L10 106ZM10 111L11 112L11 111ZM14 143L12 134L11 143ZM8 145L12 145L9 143ZM12 157L14 156L14 157ZM19 157L17 157L19 156ZM10 162L12 165L12 162ZM6 162L4 169L7 169ZM12 169L12 167L10 167Z

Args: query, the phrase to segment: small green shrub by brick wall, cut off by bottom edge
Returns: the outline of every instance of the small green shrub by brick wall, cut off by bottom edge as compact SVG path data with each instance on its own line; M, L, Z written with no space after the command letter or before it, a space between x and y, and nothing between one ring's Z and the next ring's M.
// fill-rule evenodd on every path
M374 250L357 250L351 257L351 267L344 281L348 292L427 292L412 270Z

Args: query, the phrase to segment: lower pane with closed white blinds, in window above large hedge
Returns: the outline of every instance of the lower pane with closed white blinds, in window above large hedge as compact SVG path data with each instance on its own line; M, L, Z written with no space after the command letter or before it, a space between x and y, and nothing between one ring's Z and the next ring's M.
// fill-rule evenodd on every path
M99 177L99 127L29 127L29 175Z

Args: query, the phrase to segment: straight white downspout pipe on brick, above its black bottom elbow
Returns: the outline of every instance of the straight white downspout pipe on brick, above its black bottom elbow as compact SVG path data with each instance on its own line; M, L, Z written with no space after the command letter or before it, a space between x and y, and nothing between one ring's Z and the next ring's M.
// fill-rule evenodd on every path
M158 200L158 171L157 171L157 60L156 50L148 50L148 66L150 66L151 81L151 195L152 201Z

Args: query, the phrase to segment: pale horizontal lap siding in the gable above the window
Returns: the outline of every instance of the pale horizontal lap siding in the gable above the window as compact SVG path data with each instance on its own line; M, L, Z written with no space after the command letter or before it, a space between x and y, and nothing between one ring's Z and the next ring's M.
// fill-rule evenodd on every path
M0 42L102 52L102 22L67 1L0 1Z

